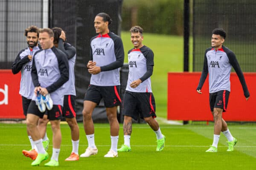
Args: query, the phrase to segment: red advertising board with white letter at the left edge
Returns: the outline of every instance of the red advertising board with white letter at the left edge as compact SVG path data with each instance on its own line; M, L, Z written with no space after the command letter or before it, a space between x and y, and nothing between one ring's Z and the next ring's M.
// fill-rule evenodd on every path
M20 73L0 70L0 119L25 119L22 109Z

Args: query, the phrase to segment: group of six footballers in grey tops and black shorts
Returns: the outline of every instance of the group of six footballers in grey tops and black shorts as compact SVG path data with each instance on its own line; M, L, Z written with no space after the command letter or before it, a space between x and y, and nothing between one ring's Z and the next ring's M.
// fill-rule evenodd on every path
M120 98L119 68L123 66L124 49L122 40L112 33L108 26L112 23L106 13L99 13L94 20L96 36L90 40L90 60L87 63L91 74L90 85L85 93L83 123L88 147L80 157L96 155L98 149L94 140L92 113L103 98L108 121L110 123L111 148L104 157L118 157L118 152L131 151L130 138L132 119L138 114L154 130L157 137L157 151L164 148L166 137L161 133L156 117L154 95L151 89L151 75L154 67L154 53L143 45L143 28L133 26L130 29L131 42L134 46L128 51L129 74L123 99ZM20 95L23 112L26 116L27 133L31 150L23 150L24 156L30 157L32 166L48 159L49 139L46 133L47 123L52 127L52 157L45 166L58 166L61 147L60 120L62 116L71 129L73 150L66 161L79 160L79 127L75 112L75 76L74 65L76 48L65 42L66 35L61 28L38 29L30 26L25 30L28 48L20 51L12 65L12 71L21 71ZM235 69L244 90L246 100L250 94L235 54L223 46L226 32L221 28L212 31L212 47L204 56L204 68L197 87L201 88L209 73L209 103L214 117L214 139L206 152L217 152L220 133L228 139L227 151L233 151L237 143L222 112L227 109L230 93L230 72ZM40 46L38 45L40 42ZM123 105L124 144L117 149L119 123L116 118L117 106Z

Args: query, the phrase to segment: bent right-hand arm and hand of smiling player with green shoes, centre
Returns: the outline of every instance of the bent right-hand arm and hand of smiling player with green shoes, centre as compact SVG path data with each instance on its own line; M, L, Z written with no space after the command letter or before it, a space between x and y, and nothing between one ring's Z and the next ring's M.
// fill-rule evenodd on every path
M140 77L139 79L131 82L130 86L131 88L136 88L140 83L144 82L146 79L151 77L153 74L153 67L154 67L154 53L153 51L149 50L147 54L145 54L146 58L146 65L147 65L147 71L145 74Z

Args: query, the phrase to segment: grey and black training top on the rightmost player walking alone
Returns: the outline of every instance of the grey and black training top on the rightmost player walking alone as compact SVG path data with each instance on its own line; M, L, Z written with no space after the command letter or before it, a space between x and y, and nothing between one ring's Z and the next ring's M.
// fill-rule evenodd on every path
M215 51L214 48L208 48L204 55L204 68L197 87L201 89L209 72L209 93L221 90L230 91L230 73L231 68L235 69L236 74L241 82L244 96L249 97L249 91L245 83L244 75L241 71L236 55L222 45L222 48Z

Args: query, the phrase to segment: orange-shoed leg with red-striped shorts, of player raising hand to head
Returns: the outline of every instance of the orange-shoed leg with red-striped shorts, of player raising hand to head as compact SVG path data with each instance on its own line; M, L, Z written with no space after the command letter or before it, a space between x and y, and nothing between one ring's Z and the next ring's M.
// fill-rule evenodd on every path
M65 159L65 161L78 161L78 147L79 147L79 127L76 122L76 111L75 111L76 96L65 95L64 105L62 109L62 116L66 118L66 122L71 130L71 141L72 141L72 152L71 155Z

